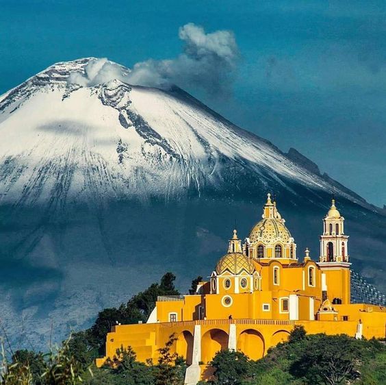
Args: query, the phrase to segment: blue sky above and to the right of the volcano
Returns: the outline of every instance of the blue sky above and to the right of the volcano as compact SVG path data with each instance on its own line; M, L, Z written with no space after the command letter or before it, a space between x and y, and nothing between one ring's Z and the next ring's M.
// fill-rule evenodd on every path
M385 1L0 0L0 93L62 60L125 66L181 53L179 27L233 31L227 91L188 91L386 204Z

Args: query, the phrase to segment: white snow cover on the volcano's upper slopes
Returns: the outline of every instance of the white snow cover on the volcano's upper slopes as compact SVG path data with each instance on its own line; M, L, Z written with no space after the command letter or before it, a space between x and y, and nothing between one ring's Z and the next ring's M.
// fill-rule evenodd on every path
M165 92L118 80L90 88L68 84L68 75L87 63L55 64L3 96L2 201L18 196L39 203L52 193L88 199L101 189L143 198L194 187L199 195L208 185L218 187L224 158L247 162L262 182L285 185L288 178L331 190L269 142L219 119L177 88ZM66 184L59 190L60 174ZM98 187L90 182L94 177Z

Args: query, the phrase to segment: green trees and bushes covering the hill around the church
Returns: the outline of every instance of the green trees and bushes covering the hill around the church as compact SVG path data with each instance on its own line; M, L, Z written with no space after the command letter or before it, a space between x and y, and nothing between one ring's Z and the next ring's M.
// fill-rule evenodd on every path
M99 312L88 330L70 335L48 353L18 350L2 344L1 385L182 385L185 361L173 353L175 336L159 349L159 360L136 360L131 347L98 369L94 360L104 352L105 334L112 325L145 321L158 295L177 295L175 275L166 273L159 283L134 295L119 308ZM198 279L192 282L194 291ZM5 347L8 347L6 351ZM261 360L249 360L240 351L220 351L211 362L209 384L386 384L386 345L379 340L355 340L345 334L307 335L295 327L286 343L269 349Z

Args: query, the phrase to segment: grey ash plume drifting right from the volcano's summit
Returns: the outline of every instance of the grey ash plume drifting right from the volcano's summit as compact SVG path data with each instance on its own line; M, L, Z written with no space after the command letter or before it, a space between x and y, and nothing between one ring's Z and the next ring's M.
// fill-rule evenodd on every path
M229 90L239 51L231 31L205 33L203 27L188 23L179 29L183 52L174 59L146 60L127 71L107 59L90 60L85 73L71 73L70 83L94 86L119 79L122 82L157 88L203 88L211 94Z

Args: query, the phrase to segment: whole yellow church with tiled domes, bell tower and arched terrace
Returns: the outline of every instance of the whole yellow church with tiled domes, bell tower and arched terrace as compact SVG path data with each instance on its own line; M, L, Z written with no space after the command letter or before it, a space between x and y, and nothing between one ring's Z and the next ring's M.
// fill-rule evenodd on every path
M309 334L385 338L386 308L350 303L348 236L334 199L323 219L318 262L308 249L300 261L268 194L261 221L244 243L233 230L227 253L196 293L158 297L146 323L114 326L97 365L122 345L131 346L140 361L157 360L157 349L174 333L174 349L188 365L185 384L196 384L210 372L217 351L240 350L257 360L295 325Z

